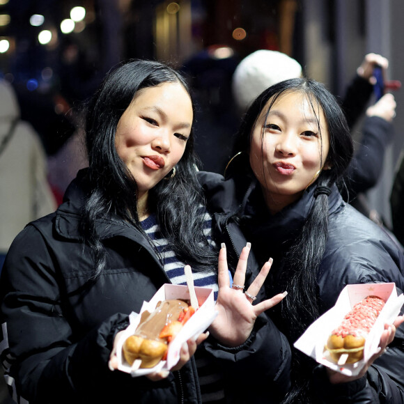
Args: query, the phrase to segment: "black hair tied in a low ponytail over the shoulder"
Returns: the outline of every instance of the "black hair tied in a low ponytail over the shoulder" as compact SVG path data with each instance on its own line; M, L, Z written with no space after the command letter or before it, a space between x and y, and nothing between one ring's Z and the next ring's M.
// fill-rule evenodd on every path
M311 187L332 187L335 183L341 186L343 173L352 160L353 144L345 116L339 102L329 93L323 84L312 79L299 78L281 81L256 98L247 111L242 125L238 132L238 139L235 143L235 152L240 157L235 159L228 176L240 173L247 173L254 176L249 166L249 148L251 136L257 123L258 116L263 112L269 113L276 100L286 93L301 93L306 100L309 100L313 113L317 118L318 130L320 132L320 121L318 116L319 107L323 111L327 130L329 134L329 152L327 165L329 170L323 170ZM269 106L267 106L269 102ZM262 155L261 155L262 157ZM325 162L321 162L323 166ZM305 329L313 323L320 315L318 290L316 287L316 275L323 261L325 244L328 235L328 196L319 194L313 200L309 215L307 215L300 232L293 239L292 245L281 264L281 290L288 290L288 298L283 300L281 314L286 318L285 326L288 339L291 343L296 341ZM317 298L316 298L317 297ZM293 368L297 378L290 390L286 403L309 402L307 394L307 375L302 374L300 364L305 362L303 355L295 352ZM306 397L306 398L305 398Z

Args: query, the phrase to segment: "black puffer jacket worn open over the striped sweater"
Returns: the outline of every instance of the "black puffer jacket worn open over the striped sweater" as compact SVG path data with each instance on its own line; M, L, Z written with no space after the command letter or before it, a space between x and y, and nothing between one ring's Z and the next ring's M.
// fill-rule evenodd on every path
M139 312L143 300L150 300L169 279L146 238L120 219L109 218L97 223L107 265L90 281L91 254L77 233L84 194L78 177L56 213L26 226L6 258L1 323L7 325L10 348L4 356L17 391L40 404L201 403L193 358L160 382L109 371L114 335L127 326L127 315ZM246 283L252 276L249 267ZM265 316L241 347L226 350L214 339L204 345L212 360L219 359L217 370L225 372L229 403L249 398L276 403L287 391L290 348ZM268 396L264 385L273 394Z

